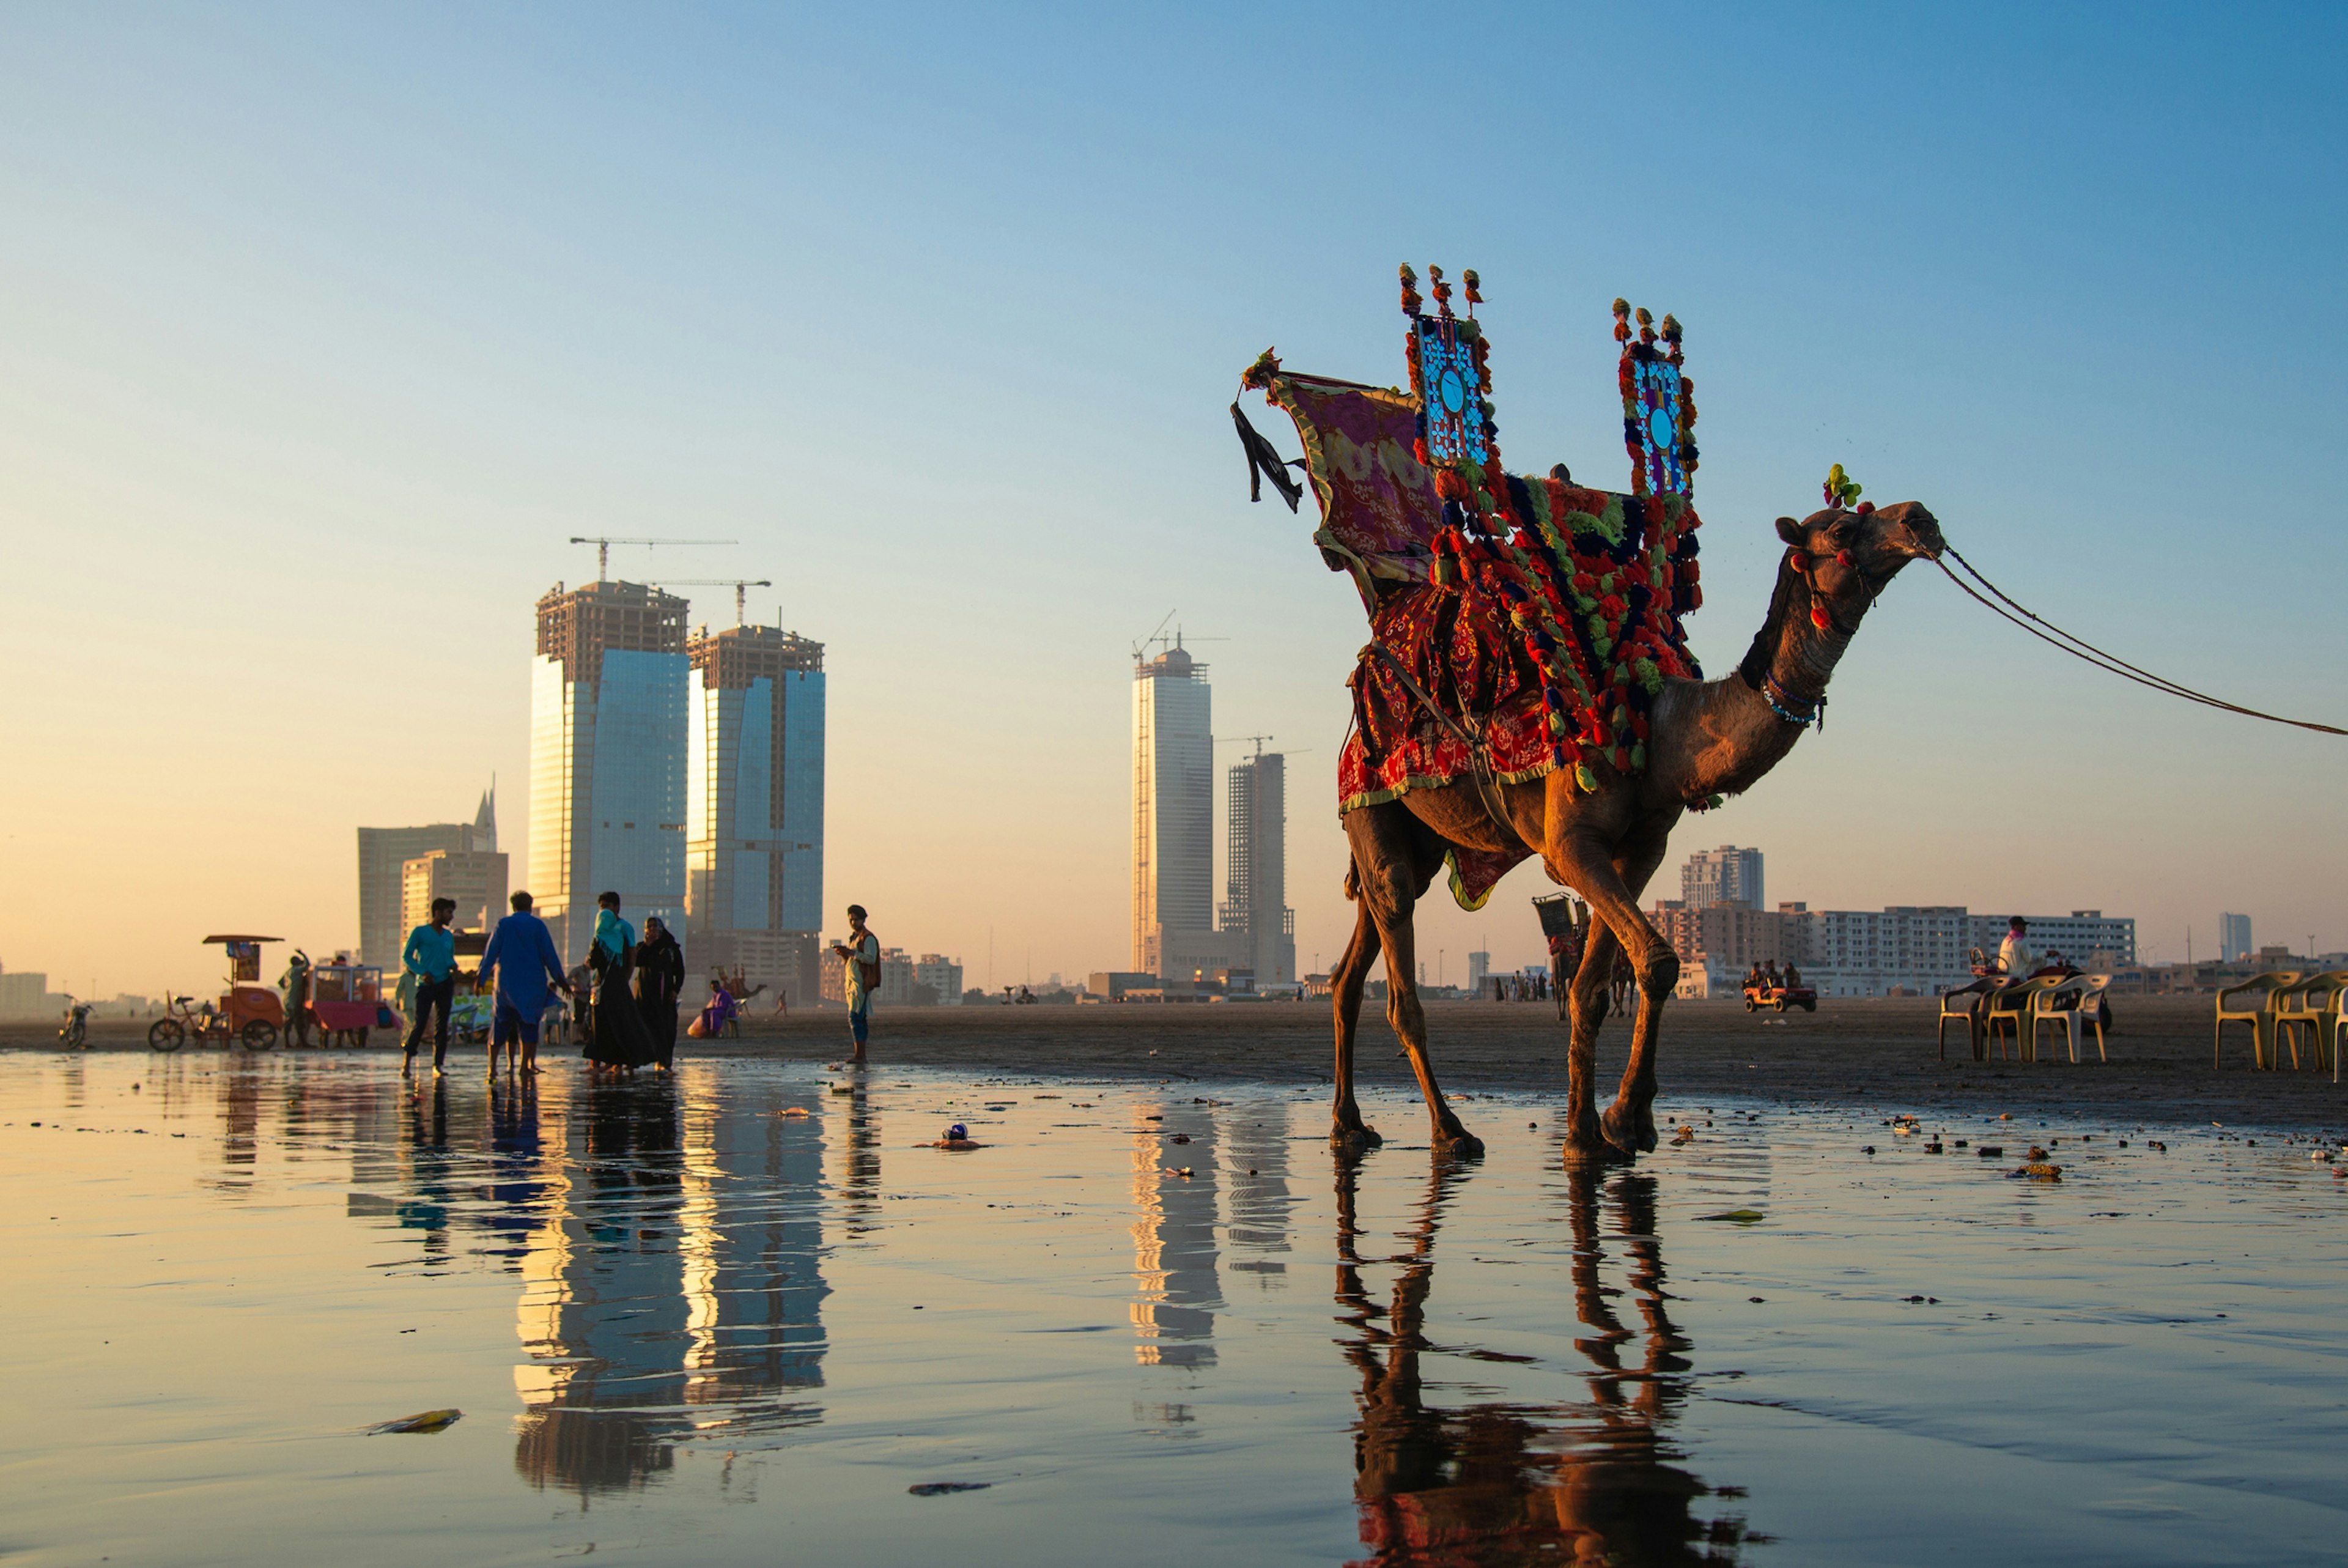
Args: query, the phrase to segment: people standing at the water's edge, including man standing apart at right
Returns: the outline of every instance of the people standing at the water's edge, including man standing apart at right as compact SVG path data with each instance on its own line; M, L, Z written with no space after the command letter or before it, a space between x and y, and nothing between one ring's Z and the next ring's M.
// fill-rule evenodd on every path
M564 972L554 934L531 908L531 894L512 897L512 913L498 920L481 951L481 967L467 976L456 962L456 899L434 899L432 918L409 932L399 951L402 984L411 988L409 1033L399 1052L399 1070L416 1070L416 1052L432 1030L432 1075L446 1073L448 1016L460 981L491 991L488 1070L498 1070L500 1052L521 1073L538 1070L538 1042L564 1021L580 1033L582 1056L592 1073L625 1075L639 1068L667 1073L676 1063L679 998L686 988L686 951L660 915L643 918L643 937L620 915L620 894L596 897L594 939L587 962ZM871 1005L880 991L880 939L864 925L862 904L848 906L848 941L831 944L845 965L848 1030L852 1061L864 1061L871 1033ZM495 976L495 979L493 979ZM308 981L308 967L303 972ZM556 995L568 998L568 1019ZM709 1005L693 1023L693 1035L716 1035L740 1016L747 995L744 976L711 972ZM777 1009L780 1012L780 1009Z

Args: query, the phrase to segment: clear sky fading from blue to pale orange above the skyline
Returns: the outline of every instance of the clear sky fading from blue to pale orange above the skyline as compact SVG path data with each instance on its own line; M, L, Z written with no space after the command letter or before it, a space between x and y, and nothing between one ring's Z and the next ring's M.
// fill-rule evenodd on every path
M613 575L772 577L826 643L824 899L967 984L1127 967L1129 648L1223 638L1327 967L1364 624L1226 406L1266 345L1402 380L1402 261L1482 272L1519 472L1627 488L1608 303L1686 324L1714 671L1843 462L2123 657L2348 723L2341 12L1432 19L0 2L0 965L352 944L352 829L493 775L524 852L531 606L610 533L740 540ZM1911 568L1651 897L1740 843L1813 908L2348 948L2343 761ZM1533 962L1545 890L1430 904L1428 976Z

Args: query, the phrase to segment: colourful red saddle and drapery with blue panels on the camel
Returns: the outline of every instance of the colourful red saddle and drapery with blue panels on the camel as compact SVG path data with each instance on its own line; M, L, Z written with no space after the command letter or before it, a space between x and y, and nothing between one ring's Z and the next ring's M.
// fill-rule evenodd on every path
M1702 678L1681 624L1705 596L1691 505L1695 383L1681 369L1679 322L1658 326L1639 310L1634 326L1632 307L1613 303L1632 488L1592 491L1564 465L1507 472L1491 340L1475 319L1479 279L1460 277L1468 315L1453 312L1442 268L1428 268L1428 284L1432 312L1402 268L1409 392L1303 376L1270 350L1240 378L1296 420L1298 465L1230 406L1251 495L1268 479L1296 509L1303 486L1287 469L1303 467L1322 509L1313 542L1369 613L1338 761L1341 815L1463 779L1498 812L1498 784L1561 768L1597 789L1592 761L1646 768L1648 707L1665 678ZM1453 897L1482 908L1526 854L1453 847Z

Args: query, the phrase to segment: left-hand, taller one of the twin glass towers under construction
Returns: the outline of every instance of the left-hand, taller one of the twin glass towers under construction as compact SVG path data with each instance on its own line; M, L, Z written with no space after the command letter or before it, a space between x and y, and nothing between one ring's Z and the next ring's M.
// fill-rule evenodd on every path
M589 582L538 601L531 671L531 892L564 962L599 892L686 930L686 601Z

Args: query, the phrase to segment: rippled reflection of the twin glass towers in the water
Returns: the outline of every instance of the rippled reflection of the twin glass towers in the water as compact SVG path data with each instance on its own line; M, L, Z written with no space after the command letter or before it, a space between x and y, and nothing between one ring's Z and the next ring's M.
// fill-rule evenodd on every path
M822 1415L822 1122L688 1099L669 1075L573 1099L524 1263L514 1467L533 1486L587 1500L683 1441L756 1448Z

